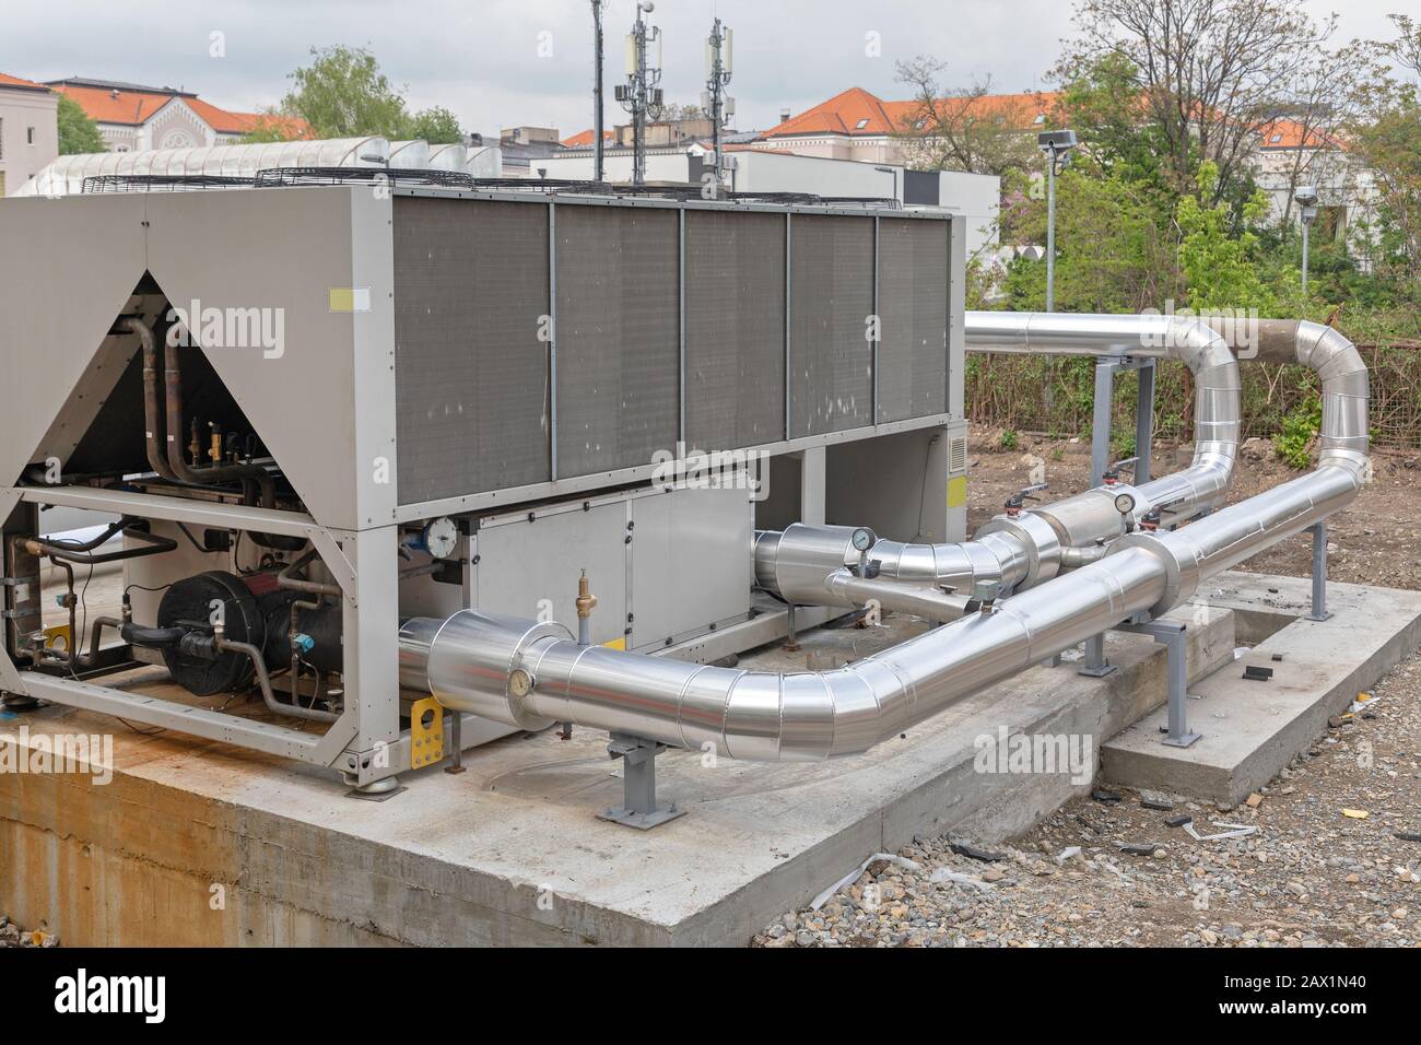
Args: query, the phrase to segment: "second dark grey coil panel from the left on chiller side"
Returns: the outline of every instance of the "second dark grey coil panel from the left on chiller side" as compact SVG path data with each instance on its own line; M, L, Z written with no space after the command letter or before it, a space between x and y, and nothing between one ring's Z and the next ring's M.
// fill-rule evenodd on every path
M557 208L558 475L644 465L679 427L678 218Z

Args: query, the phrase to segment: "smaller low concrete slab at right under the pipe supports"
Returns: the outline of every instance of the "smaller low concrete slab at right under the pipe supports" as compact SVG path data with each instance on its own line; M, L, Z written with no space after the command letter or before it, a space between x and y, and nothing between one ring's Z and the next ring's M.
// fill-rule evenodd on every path
M1113 783L1181 792L1236 805L1268 783L1421 643L1421 591L1327 586L1326 621L1306 620L1312 582L1231 572L1201 591L1196 606L1228 607L1258 644L1239 661L1189 688L1189 725L1204 736L1188 748L1160 742L1164 712L1106 744L1101 772ZM1248 638L1241 638L1248 643ZM1275 661L1273 655L1282 660ZM1272 668L1265 682L1243 668Z

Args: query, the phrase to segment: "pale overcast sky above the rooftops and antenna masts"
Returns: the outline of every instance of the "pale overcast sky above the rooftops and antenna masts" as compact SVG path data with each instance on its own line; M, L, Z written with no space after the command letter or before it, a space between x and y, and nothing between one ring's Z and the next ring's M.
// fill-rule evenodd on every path
M1341 37L1390 37L1388 11L1415 0L1309 0L1343 9ZM948 85L1046 87L1070 34L1069 0L658 0L669 101L696 102L716 14L735 30L736 125L766 128L847 87L907 90L894 63L932 54ZM446 105L466 129L530 124L564 136L591 125L590 0L0 0L0 71L84 75L196 91L225 108L280 101L311 47L369 47L412 108ZM632 0L608 0L607 124ZM225 57L213 57L220 33ZM877 34L880 53L870 43ZM550 51L550 53L549 53Z

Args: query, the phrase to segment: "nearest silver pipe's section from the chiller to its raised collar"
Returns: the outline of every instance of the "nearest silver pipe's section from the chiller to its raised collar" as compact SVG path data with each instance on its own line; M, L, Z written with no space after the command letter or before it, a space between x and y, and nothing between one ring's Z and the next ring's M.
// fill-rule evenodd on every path
M834 671L776 674L578 645L558 624L480 610L399 633L401 685L523 729L571 722L752 761L858 755L992 682L1152 606L1160 559L1110 556Z

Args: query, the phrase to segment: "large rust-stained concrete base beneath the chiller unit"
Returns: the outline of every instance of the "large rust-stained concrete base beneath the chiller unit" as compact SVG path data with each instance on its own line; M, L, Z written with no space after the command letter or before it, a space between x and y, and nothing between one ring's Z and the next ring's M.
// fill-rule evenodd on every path
M816 647L860 657L921 628L816 630L746 663L803 670ZM1209 614L1192 674L1232 645L1232 614ZM743 944L872 852L949 829L998 840L1087 789L1100 738L1164 700L1161 647L1118 636L1108 654L1103 680L1039 667L854 759L666 752L661 795L688 815L651 832L595 819L621 763L591 731L497 741L377 803L317 769L48 707L0 734L109 732L115 772L0 775L0 909L82 945ZM1086 775L978 772L975 738L999 728L1088 738Z

